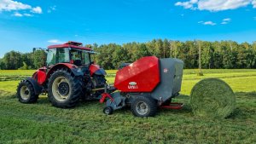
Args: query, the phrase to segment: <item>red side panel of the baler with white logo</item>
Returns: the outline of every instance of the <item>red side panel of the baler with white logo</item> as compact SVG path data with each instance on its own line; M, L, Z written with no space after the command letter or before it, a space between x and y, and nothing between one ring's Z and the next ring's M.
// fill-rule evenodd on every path
M143 57L116 73L114 87L122 92L152 92L160 83L160 61Z

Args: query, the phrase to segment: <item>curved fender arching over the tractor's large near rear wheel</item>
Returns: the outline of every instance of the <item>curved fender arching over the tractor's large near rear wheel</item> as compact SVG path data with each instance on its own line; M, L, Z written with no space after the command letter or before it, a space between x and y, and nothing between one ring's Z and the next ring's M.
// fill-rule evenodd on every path
M67 70L72 72L73 75L75 75L75 76L84 76L84 73L79 71L78 66L75 66L75 65L69 64L69 63L59 63L59 64L50 68L49 72L47 73L47 79L50 77L50 75L53 72L55 72L58 69L63 69L63 68L67 68Z

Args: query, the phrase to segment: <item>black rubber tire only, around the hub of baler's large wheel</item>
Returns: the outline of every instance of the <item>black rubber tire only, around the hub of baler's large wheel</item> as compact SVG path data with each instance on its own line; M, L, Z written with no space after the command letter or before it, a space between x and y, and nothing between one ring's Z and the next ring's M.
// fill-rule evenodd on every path
M148 111L144 114L137 112L137 105L138 103L143 103L148 107ZM134 101L131 102L131 112L133 115L143 118L143 117L154 117L157 112L157 104L154 99L147 96L137 96Z

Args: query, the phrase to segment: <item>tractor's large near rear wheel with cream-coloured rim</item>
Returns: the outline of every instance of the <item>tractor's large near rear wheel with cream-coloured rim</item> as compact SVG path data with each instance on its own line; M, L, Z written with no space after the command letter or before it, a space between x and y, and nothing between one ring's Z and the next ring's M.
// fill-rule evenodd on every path
M80 78L66 70L57 70L49 78L48 97L55 107L75 107L82 94Z

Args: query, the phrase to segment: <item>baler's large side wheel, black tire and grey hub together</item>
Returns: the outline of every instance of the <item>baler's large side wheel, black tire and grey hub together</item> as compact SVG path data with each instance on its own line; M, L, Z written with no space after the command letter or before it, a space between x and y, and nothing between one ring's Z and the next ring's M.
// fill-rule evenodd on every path
M148 95L137 96L131 102L131 112L137 117L154 117L156 111L156 102Z

